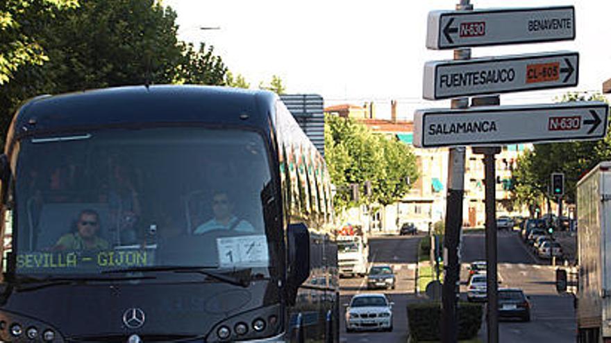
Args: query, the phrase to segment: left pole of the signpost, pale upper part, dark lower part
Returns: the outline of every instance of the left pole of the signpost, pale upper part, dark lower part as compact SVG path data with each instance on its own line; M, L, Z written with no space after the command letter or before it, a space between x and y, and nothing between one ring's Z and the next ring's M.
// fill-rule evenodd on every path
M473 10L469 0L460 0L456 10ZM454 60L469 60L471 49L454 50ZM469 107L469 98L455 98L453 109ZM444 235L444 284L442 288L442 342L455 343L458 340L456 307L460 297L460 262L458 243L462 229L462 200L464 196L464 146L450 148L448 161L448 193L446 198L446 221Z

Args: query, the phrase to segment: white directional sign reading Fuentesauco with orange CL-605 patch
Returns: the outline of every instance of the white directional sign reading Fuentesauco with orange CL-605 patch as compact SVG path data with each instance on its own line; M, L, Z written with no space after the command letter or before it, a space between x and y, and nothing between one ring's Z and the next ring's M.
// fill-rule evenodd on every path
M431 61L424 65L424 98L532 91L578 84L579 53Z

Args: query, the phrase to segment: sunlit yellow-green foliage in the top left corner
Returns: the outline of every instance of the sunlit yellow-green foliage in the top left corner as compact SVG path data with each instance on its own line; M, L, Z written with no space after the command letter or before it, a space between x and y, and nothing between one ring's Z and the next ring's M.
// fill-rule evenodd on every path
M40 21L53 19L53 10L78 6L76 0L4 0L0 2L0 85L24 65L49 60L37 37Z

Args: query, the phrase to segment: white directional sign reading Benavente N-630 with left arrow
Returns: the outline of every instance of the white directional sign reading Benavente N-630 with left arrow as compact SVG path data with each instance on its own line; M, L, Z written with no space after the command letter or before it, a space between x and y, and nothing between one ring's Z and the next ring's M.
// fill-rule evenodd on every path
M428 49L572 39L575 39L573 6L428 13Z

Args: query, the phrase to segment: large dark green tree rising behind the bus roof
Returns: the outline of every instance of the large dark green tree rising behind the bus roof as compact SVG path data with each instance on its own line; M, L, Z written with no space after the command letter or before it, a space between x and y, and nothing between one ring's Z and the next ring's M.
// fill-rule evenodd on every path
M122 85L225 85L221 58L211 46L195 49L179 42L176 13L159 1L88 0L72 8L39 7L22 16L47 62L22 64L0 87L3 131L17 106L39 94ZM6 55L4 49L0 53Z

